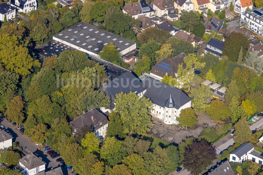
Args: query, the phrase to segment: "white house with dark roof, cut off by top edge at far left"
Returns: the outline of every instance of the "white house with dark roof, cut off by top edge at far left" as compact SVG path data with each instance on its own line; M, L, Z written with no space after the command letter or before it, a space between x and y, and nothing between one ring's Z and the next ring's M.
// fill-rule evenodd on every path
M30 12L37 9L36 0L10 0L10 5L17 8L18 12Z

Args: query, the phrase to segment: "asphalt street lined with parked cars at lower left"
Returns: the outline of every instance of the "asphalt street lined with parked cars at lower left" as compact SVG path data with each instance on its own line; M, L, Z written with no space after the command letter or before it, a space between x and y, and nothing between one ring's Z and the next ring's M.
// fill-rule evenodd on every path
M6 127L6 130L10 131L13 138L13 142L19 142L19 146L23 148L24 153L32 152L38 157L41 157L42 160L47 163L46 169L50 170L51 168L57 168L60 166L58 162L56 162L56 159L52 159L47 155L46 152L43 152L42 150L38 150L38 146L27 139L27 136L21 134L18 129L14 128L11 123L9 123L6 119L1 119L1 125L4 125ZM68 174L65 167L62 166L62 171L64 174Z

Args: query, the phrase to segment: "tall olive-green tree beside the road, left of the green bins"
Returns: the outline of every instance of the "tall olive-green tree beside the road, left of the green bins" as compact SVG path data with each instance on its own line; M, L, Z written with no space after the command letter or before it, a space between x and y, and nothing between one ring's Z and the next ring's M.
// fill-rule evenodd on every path
M241 117L236 124L234 125L235 128L235 136L234 141L236 143L244 143L249 140L250 137L250 129L249 126L246 123L245 117Z

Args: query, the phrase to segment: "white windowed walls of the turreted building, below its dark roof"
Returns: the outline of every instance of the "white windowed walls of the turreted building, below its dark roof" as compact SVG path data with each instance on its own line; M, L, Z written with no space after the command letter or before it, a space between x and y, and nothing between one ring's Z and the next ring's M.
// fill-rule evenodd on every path
M161 107L156 104L153 105L153 111L151 111L151 115L157 117L162 120L165 124L178 124L178 117L180 116L181 110L191 107L191 101L181 106L179 109L176 108L168 108Z

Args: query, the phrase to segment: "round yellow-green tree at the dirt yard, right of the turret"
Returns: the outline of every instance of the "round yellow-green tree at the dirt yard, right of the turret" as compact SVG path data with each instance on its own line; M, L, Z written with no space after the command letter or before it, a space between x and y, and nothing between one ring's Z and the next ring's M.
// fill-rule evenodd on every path
M195 124L197 123L197 117L195 115L195 111L190 107L182 109L178 121L182 126L186 126L186 130L187 130L187 126L194 127Z

